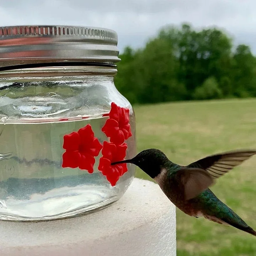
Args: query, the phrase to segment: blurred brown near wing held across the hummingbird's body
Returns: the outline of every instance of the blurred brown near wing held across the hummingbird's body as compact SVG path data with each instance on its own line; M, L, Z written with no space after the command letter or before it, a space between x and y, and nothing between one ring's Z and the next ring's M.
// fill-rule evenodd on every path
M205 170L188 167L177 170L175 180L181 181L185 200L198 196L214 183L213 177Z

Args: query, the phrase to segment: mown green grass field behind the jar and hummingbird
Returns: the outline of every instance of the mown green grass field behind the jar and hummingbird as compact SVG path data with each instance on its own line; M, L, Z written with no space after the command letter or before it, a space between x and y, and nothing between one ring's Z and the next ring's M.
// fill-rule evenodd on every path
M256 148L256 99L134 107L138 152L158 148L187 165L209 154ZM137 168L137 177L150 179ZM218 179L213 192L256 229L256 156ZM177 255L256 255L256 237L177 213Z

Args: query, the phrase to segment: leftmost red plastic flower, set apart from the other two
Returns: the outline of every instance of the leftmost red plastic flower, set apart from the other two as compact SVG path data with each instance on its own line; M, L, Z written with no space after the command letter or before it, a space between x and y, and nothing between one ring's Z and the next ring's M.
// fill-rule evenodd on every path
M62 167L77 168L87 170L92 173L95 156L98 156L102 145L92 131L91 125L64 135L63 148L66 150L62 156Z

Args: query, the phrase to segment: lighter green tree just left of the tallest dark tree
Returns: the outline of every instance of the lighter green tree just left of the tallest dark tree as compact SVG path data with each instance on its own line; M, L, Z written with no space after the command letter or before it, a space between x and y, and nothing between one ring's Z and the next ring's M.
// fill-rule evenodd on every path
M179 65L171 41L161 38L149 41L140 55L138 65L143 77L140 102L183 99L186 90L177 80Z

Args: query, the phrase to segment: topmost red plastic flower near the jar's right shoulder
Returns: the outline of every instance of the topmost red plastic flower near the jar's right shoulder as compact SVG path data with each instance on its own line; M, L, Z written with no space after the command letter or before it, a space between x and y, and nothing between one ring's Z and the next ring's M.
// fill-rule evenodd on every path
M110 142L120 145L132 136L129 124L129 109L118 107L112 102L109 116L110 118L107 119L101 130L107 137L110 137Z

